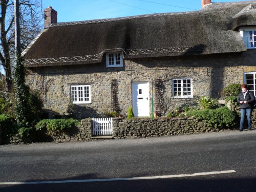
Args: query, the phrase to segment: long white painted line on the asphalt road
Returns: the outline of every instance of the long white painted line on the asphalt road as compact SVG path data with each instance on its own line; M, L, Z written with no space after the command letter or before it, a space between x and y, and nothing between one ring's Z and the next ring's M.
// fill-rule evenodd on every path
M146 180L146 179L169 179L169 178L177 178L177 177L195 177L195 176L228 174L228 173L236 173L236 170L222 170L221 172L203 172L203 173L195 173L195 174L165 175L165 176L152 176L152 177L130 177L130 178L110 178L110 179L83 179L83 180L64 180L64 181L0 182L0 185L52 184L52 183L84 183L84 182L104 182L104 181L131 181L131 180Z

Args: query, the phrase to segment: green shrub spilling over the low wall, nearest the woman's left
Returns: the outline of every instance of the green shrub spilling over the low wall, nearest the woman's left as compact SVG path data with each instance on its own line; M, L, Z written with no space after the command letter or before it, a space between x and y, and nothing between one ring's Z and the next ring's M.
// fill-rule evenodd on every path
M236 124L236 114L226 106L215 110L197 110L188 112L189 116L195 116L202 120L204 125L215 128L231 128Z

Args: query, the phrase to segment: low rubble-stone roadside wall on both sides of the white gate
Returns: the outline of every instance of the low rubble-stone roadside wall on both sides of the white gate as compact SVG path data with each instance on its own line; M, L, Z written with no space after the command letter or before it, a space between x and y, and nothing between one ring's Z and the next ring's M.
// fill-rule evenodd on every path
M196 134L217 132L221 129L205 127L194 117L157 118L157 119L113 119L113 138L142 138L164 135ZM68 142L85 141L92 138L92 119L82 119L81 125L69 132L45 133L37 131L30 138L22 139L13 135L4 139L4 144L29 143L29 142Z

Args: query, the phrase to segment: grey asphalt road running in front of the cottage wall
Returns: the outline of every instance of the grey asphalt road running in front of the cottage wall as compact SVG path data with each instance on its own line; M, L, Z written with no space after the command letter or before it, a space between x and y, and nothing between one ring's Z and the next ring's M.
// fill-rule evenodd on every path
M256 130L0 145L0 191L256 191Z

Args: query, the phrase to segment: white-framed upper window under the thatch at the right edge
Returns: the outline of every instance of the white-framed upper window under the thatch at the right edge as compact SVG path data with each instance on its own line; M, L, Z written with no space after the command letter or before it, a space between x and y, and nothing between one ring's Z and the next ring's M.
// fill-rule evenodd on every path
M240 34L247 49L256 49L256 27L240 29Z

